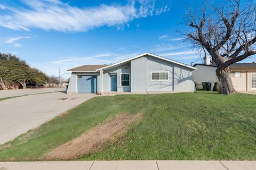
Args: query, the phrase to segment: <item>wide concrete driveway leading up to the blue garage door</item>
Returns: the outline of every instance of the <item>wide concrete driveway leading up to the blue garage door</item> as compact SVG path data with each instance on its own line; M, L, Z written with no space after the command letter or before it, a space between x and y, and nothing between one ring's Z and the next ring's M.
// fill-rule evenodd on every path
M94 96L96 95L53 92L0 101L0 144L36 128Z

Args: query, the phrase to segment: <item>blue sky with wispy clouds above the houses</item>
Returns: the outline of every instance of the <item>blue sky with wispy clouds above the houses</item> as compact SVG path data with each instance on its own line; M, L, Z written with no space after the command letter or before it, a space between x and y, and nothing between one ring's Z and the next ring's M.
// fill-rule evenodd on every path
M202 2L2 0L0 52L13 53L48 75L145 52L201 63L177 30L182 30L186 7ZM252 61L255 56L243 62Z

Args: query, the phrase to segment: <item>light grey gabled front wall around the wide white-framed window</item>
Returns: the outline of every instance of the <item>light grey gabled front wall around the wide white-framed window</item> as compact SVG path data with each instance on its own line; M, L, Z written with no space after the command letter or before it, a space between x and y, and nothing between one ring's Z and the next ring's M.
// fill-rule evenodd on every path
M168 72L169 80L151 80L151 72ZM131 61L132 92L194 92L195 84L190 69L151 56Z

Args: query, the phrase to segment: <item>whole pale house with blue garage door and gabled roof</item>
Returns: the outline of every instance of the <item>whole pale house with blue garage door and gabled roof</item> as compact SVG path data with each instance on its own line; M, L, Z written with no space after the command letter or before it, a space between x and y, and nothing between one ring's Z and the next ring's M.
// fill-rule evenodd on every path
M151 53L111 65L83 65L70 69L68 93L194 92L195 67Z

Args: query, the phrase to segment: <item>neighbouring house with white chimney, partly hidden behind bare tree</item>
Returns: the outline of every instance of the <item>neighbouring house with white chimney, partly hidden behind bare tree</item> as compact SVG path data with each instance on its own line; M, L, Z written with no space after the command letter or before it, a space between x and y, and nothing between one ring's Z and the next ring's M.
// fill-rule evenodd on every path
M210 56L204 57L204 63L194 64L192 71L197 89L203 89L202 82L218 82L217 66L210 62ZM256 63L234 63L229 66L235 90L256 90Z

